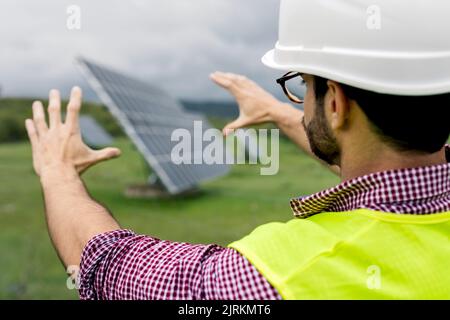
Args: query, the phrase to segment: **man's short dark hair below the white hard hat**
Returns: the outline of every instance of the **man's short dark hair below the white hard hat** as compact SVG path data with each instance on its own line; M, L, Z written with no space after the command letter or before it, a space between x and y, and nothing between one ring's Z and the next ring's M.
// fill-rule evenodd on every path
M314 77L319 104L328 91L327 79ZM433 96L381 94L340 84L358 103L372 129L399 151L439 151L450 135L450 93Z

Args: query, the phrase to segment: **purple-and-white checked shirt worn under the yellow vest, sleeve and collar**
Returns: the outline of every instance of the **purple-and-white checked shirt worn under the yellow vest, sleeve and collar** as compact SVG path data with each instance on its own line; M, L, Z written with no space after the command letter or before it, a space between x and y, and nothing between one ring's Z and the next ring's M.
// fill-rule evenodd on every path
M450 162L450 146L446 146ZM450 163L390 170L291 200L294 215L368 208L392 213L450 211ZM136 235L100 234L86 245L81 299L281 299L237 251Z

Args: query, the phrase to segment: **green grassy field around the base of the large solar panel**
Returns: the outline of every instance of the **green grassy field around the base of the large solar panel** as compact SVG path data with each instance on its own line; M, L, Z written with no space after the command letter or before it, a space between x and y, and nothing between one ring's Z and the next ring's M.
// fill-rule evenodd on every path
M123 156L85 175L92 195L121 225L138 233L226 245L256 226L291 218L289 198L338 182L326 169L281 140L280 171L260 176L258 166L234 166L202 186L203 194L177 200L127 199L127 185L144 182L143 161L127 140ZM0 298L75 299L49 241L38 180L27 143L0 144Z

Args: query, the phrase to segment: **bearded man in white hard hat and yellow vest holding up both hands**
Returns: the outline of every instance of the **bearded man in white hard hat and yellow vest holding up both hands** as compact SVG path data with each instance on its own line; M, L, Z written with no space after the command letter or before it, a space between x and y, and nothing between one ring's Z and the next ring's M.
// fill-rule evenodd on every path
M450 298L450 45L430 26L445 25L449 6L378 1L389 11L386 33L370 35L353 25L365 10L333 3L282 1L280 41L264 59L294 70L278 82L304 113L242 76L211 76L240 107L225 133L274 122L343 180L293 199L296 219L261 226L228 248L120 229L80 179L120 153L94 152L81 141L80 89L64 123L57 91L50 92L49 127L42 104L33 105L26 127L49 233L63 263L81 266L82 299ZM426 28L405 39L403 15ZM329 33L320 28L325 22ZM368 39L356 41L360 34ZM424 48L414 51L418 43ZM287 89L300 77L304 101Z

